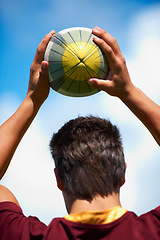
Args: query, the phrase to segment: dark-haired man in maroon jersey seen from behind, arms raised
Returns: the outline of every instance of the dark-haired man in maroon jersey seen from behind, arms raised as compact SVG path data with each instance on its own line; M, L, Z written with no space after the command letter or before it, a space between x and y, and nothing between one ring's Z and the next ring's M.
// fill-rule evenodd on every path
M160 144L160 107L132 84L116 40L98 27L93 33L110 72L106 80L89 79L88 83L121 99ZM48 63L43 59L53 34L47 34L37 48L26 98L0 127L1 178L48 97ZM46 226L24 216L14 195L0 186L0 239L160 239L160 207L140 217L121 208L125 161L116 126L92 116L71 120L53 135L50 148L69 215Z

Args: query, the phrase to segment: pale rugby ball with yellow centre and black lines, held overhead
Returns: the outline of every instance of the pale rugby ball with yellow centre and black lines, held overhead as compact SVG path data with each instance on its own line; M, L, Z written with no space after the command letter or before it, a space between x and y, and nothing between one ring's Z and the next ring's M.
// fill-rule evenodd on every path
M99 90L87 80L105 79L109 71L106 57L94 43L89 28L69 28L55 34L47 46L45 60L49 62L51 88L72 97L97 93Z

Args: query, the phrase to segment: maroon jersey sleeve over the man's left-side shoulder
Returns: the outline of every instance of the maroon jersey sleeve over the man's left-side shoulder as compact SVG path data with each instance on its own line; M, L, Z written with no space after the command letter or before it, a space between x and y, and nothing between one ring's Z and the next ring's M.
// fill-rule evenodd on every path
M42 239L46 225L36 217L26 217L12 202L0 203L0 239Z

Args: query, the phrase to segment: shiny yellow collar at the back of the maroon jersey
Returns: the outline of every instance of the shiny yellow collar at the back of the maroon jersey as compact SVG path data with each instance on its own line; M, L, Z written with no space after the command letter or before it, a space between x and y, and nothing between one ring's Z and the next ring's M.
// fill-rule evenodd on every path
M72 222L88 224L106 224L115 221L127 212L121 207L114 207L104 211L85 211L75 214L69 214L64 218Z

